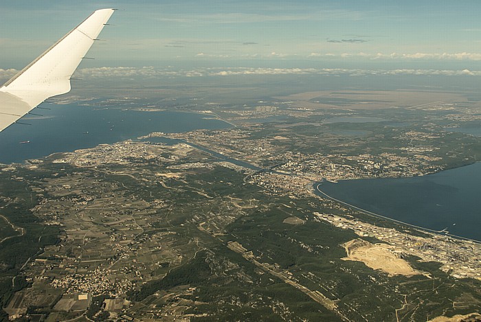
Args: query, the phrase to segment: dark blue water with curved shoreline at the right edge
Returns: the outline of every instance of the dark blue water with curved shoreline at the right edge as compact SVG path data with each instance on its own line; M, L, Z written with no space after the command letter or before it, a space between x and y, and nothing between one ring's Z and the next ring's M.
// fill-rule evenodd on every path
M382 216L481 241L481 163L411 178L324 181L320 189Z

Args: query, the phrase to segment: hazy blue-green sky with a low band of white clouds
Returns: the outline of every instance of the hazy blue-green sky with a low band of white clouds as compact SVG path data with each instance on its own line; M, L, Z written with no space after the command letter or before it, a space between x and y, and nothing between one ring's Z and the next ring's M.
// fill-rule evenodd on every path
M81 68L481 73L476 0L5 0L0 78L100 8L120 10L89 53L96 60Z

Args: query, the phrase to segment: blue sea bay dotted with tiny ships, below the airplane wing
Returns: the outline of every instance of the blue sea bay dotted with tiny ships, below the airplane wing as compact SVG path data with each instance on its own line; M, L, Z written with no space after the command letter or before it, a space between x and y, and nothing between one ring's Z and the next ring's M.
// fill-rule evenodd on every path
M92 148L100 143L136 139L152 132L181 133L200 128L229 128L218 119L197 113L125 111L78 104L42 104L43 117L29 115L0 132L0 163L23 162L54 152ZM20 143L30 141L30 143Z

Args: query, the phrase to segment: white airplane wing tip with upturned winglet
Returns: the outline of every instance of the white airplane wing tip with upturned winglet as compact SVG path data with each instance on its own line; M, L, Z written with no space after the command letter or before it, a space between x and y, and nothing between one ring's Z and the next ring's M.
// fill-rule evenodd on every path
M93 12L0 87L0 132L47 98L70 91L70 78L114 9Z

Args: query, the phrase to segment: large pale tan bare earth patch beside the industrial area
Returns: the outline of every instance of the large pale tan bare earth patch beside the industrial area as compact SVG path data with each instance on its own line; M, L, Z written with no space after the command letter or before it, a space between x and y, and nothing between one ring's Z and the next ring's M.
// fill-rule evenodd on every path
M389 276L412 276L421 274L414 270L405 260L400 258L393 246L388 244L371 244L359 238L342 244L348 257L343 260L363 262L372 269L379 269Z

